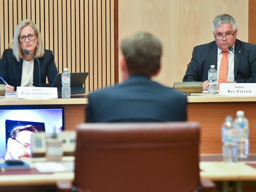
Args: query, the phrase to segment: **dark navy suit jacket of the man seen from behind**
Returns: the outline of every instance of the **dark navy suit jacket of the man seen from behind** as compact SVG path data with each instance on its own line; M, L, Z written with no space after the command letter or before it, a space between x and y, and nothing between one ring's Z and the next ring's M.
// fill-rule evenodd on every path
M172 88L132 75L110 88L90 93L86 122L186 121L187 97Z

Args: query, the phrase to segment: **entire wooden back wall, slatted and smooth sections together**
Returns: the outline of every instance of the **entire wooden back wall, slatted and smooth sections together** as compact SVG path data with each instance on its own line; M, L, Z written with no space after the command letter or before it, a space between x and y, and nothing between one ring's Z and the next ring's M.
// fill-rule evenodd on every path
M237 38L256 43L255 5L255 0L0 0L0 57L17 23L32 19L45 48L54 52L58 71L68 67L89 72L85 87L92 91L121 81L118 44L148 31L164 47L163 67L155 80L172 87L182 81L193 47L213 40L216 15L233 15Z

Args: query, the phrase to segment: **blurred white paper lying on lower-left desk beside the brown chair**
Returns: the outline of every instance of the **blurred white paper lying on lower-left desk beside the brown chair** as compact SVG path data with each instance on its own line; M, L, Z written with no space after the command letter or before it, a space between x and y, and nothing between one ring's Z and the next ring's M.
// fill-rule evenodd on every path
M34 167L39 173L74 171L75 162L36 162Z

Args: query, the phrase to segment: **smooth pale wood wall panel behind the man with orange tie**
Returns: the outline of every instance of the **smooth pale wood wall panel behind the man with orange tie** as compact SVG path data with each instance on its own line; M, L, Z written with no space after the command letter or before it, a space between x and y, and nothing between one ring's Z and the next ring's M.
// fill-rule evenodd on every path
M118 35L120 41L140 31L156 35L163 57L155 80L172 87L183 80L193 47L214 40L212 21L218 14L232 15L237 38L248 42L248 9L248 0L119 0Z

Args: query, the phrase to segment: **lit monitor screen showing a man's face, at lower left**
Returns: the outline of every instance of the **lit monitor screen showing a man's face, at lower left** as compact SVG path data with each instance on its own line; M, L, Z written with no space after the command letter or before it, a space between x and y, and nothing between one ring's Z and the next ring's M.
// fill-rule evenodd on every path
M32 125L36 131L52 133L54 127L64 127L63 114L62 108L0 109L0 158L30 156L31 147L27 144L30 144L30 132L35 130L28 128L24 132L24 126ZM15 131L17 127L22 127L22 131Z

